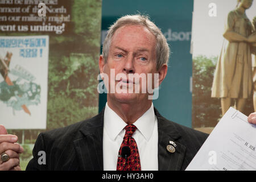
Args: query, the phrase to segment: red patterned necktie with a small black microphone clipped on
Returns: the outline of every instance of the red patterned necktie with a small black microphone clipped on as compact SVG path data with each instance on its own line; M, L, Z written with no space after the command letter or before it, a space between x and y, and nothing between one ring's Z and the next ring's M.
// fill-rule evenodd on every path
M141 171L141 160L139 159L139 151L137 143L133 136L134 131L137 129L134 125L127 125L125 127L125 137L118 152L117 171ZM130 156L127 160L121 157L122 147L127 146L130 148Z

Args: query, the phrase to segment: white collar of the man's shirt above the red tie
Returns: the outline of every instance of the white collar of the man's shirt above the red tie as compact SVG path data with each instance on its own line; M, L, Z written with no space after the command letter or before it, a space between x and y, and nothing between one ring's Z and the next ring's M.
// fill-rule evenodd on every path
M141 132L143 137L148 141L153 133L155 126L155 112L153 103L151 104L150 109L148 109L137 121L133 124L137 127L137 130ZM123 121L114 110L108 106L106 103L104 111L104 128L108 133L110 139L115 140L118 134L125 128L127 123Z

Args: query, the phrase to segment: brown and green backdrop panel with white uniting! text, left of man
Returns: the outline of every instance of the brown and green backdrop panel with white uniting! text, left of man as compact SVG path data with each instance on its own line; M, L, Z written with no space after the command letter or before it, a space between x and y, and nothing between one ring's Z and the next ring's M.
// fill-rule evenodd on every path
M21 39L23 36L39 36L47 37L46 48L48 54L40 48L38 56L22 57L20 59L20 67L24 69L34 67L42 69L36 72L31 71L31 75L39 78L48 77L46 85L41 85L41 94L47 94L47 106L45 110L36 107L40 115L33 120L34 123L39 122L41 115L46 117L46 126L34 127L25 125L28 121L26 118L20 118L19 128L23 130L8 130L11 134L19 137L19 143L22 143L24 154L20 155L20 165L22 169L26 168L28 160L31 158L31 152L38 134L42 131L64 127L91 118L98 112L98 92L97 92L97 75L98 75L98 56L100 54L100 27L101 27L101 0L53 0L40 1L46 4L46 16L38 15L39 1L0 1L0 36L1 40L11 37ZM42 8L42 7L41 7ZM0 47L0 55L5 59L7 48ZM13 51L10 49L10 51ZM16 52L16 51L15 51ZM20 57L22 54L18 52ZM24 52L23 52L24 53ZM26 52L25 53L29 53ZM30 52L32 55L35 52ZM42 55L42 57L41 57ZM17 55L13 55L10 62L10 71L7 72L11 76L14 60ZM24 61L33 60L44 61L46 65L31 64L30 66L23 64ZM1 68L1 67L0 67ZM15 68L15 65L14 65ZM48 72L48 73L47 73ZM2 73L2 72L1 72ZM0 75L0 82L4 80ZM16 80L16 78L11 78ZM23 79L24 80L24 79ZM37 81L37 80L35 80ZM5 81L6 82L6 81ZM16 84L24 85L23 82ZM5 84L6 85L6 84ZM24 85L26 86L26 85ZM24 87L23 86L23 87ZM44 88L43 88L44 87ZM25 87L26 88L26 87ZM2 87L1 87L2 90ZM25 97L26 94L18 90L18 97L12 96L10 100L17 101L17 98ZM1 97L1 93L0 93ZM45 100L41 100L46 102ZM41 102L41 104L42 104ZM20 105L27 105L21 103ZM0 98L0 109L6 107L2 105ZM0 121L11 121L13 117L13 109L9 109L8 113L0 115ZM20 109L20 106L19 106ZM36 111L31 106L27 106L31 115ZM22 110L19 111L25 113ZM9 115L7 115L9 114ZM15 111L18 115L18 111ZM29 114L25 113L29 116ZM7 126L7 129L14 129L16 126ZM17 125L18 126L18 125ZM28 130L30 128L34 130Z

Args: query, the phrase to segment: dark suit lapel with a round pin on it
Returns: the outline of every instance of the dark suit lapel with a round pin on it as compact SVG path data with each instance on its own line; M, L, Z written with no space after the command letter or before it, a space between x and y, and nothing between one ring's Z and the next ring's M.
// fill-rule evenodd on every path
M158 119L158 170L159 171L177 171L183 164L186 147L179 143L181 135L176 130L174 124L163 118L155 109L155 115ZM175 152L167 151L167 145L173 141L176 144Z

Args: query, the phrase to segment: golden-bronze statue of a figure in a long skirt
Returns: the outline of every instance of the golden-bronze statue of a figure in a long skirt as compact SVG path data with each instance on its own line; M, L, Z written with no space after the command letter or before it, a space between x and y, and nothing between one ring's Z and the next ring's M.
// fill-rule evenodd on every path
M256 43L256 34L245 14L252 3L253 0L240 0L237 8L228 14L212 86L212 97L221 98L222 115L233 100L236 109L243 112L253 87L250 46Z

